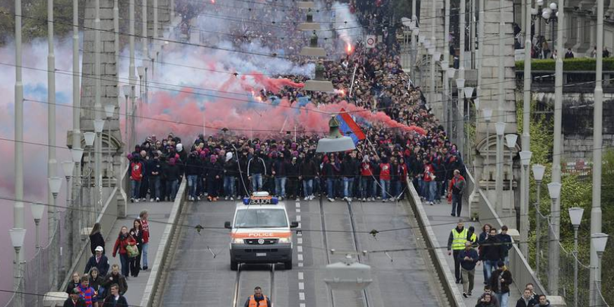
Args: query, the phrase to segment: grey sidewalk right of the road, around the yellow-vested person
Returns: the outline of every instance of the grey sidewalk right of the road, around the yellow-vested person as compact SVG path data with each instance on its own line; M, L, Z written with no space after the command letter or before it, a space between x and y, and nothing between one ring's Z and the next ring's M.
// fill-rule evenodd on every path
M424 203L423 203L424 205ZM447 246L448 237L452 229L456 227L456 224L459 222L459 217L454 217L450 215L452 213L452 205L443 201L440 204L435 204L434 206L423 206L424 211L428 215L428 221L430 222L430 226L435 232L437 236L437 241L440 246ZM482 224L480 222L471 222L468 218L468 206L463 203L463 210L461 211L461 219L465 221L465 228L468 229L470 226L475 227L475 235L480 236L480 232L482 232ZM446 255L446 261L448 263L450 272L452 272L452 276L454 276L454 258L452 256L448 256L447 249L442 249L442 251ZM478 263L478 266L475 267L475 279L473 284L473 296L470 296L464 299L466 306L475 306L475 303L478 302L478 297L482 295L484 289L484 273L482 272L483 265L482 263ZM513 278L513 276L512 276ZM454 280L453 280L454 282ZM458 284L459 291L463 292L463 284ZM516 290L516 284L510 285L510 298L509 305L512 306L512 302L515 302L518 297L513 296L513 294L518 293ZM515 303L514 303L515 304Z

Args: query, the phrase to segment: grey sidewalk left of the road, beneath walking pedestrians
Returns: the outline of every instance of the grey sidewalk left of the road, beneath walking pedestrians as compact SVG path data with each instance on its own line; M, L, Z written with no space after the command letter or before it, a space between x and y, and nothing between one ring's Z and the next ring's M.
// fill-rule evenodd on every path
M130 305L138 305L141 303L141 299L143 298L143 292L145 291L145 285L147 284L147 280L149 279L149 275L151 272L151 265L153 265L153 261L155 260L155 255L158 252L158 245L162 239L162 232L164 232L165 227L167 225L167 220L169 218L170 212L172 210L173 203L172 202L145 202L141 201L139 203L128 203L127 205L127 214L126 218L117 219L115 225L113 225L113 230L110 232L110 236L105 238L106 250L110 251L108 253L109 262L111 265L117 263L120 265L120 256L117 255L113 258L113 244L115 244L115 239L117 238L117 234L120 233L122 226L128 227L128 229L132 228L132 223L134 219L139 218L139 213L143 210L147 210L149 213L149 248L148 248L148 264L150 265L149 270L139 272L139 277L128 277L128 291L124 296ZM158 223L162 222L162 223Z

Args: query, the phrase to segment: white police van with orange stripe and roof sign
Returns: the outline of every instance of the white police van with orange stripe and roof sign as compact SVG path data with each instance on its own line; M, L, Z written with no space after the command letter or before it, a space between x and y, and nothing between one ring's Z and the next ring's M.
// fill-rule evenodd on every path
M279 199L267 192L255 192L237 203L232 222L224 223L231 230L230 268L239 263L283 263L292 268L292 231L298 222L290 223L288 212Z

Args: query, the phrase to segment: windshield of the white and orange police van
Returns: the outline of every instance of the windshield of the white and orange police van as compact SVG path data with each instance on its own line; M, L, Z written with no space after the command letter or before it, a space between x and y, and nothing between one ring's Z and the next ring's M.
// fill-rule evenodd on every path
M236 213L236 228L288 227L283 209L246 209Z

